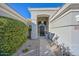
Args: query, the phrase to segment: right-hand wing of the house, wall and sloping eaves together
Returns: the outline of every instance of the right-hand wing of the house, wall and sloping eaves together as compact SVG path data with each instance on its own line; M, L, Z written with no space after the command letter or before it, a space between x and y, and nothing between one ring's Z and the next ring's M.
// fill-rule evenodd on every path
M50 32L59 36L59 44L79 55L79 4L65 4L50 20Z

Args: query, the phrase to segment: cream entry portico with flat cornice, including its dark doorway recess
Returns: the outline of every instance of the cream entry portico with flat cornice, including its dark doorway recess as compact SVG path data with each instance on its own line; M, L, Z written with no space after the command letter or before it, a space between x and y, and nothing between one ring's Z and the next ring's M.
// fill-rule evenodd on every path
M32 19L31 38L45 37L49 32L49 20L60 8L29 8Z

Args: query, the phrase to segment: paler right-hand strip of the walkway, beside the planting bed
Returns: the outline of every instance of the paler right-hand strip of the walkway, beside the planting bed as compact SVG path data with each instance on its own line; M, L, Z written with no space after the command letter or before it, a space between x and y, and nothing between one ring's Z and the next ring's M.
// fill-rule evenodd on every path
M40 39L40 56L53 56L47 39Z

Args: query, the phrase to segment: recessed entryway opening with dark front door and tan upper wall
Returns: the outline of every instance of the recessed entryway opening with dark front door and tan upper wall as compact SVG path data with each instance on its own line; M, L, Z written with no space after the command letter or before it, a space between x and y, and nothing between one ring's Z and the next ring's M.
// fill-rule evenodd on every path
M38 15L37 16L37 29L38 36L46 36L49 26L49 16L48 15Z

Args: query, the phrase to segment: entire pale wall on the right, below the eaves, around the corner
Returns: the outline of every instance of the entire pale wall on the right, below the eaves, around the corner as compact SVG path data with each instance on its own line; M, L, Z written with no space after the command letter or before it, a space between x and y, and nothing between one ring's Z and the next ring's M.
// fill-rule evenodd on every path
M64 17L57 18L50 23L49 30L59 36L59 44L64 43L65 46L70 47L72 54L79 55L79 22L76 21L76 15L79 15L79 11L71 11ZM60 27L65 25L72 26ZM77 29L75 29L76 25Z

